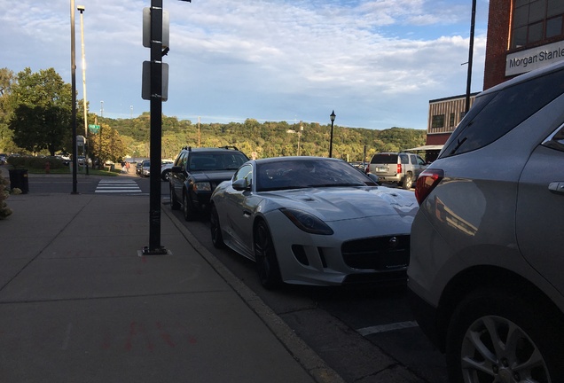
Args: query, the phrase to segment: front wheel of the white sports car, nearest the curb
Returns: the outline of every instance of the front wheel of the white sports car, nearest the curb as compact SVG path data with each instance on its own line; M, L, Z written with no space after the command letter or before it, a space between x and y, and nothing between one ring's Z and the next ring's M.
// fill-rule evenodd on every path
M271 290L282 284L278 259L268 226L260 221L255 229L255 262L259 279L264 288Z

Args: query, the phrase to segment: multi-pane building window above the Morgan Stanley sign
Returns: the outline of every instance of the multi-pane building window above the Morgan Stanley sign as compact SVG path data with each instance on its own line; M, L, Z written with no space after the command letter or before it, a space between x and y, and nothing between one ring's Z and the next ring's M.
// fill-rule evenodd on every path
M514 0L512 48L521 48L562 35L562 0Z

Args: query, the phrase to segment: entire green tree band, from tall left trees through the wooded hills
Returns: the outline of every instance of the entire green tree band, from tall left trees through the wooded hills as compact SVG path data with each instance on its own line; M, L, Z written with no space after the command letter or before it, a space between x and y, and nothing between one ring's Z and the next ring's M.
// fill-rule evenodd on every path
M13 74L0 69L0 152L72 152L71 87L53 68ZM111 119L88 113L88 124L100 126L96 134L84 130L82 101L77 100L77 134L88 137L90 156L98 160L149 157L150 114ZM331 125L317 122L264 121L192 123L162 116L161 157L174 159L186 145L237 146L257 158L308 155L327 156ZM426 131L393 127L376 130L333 127L333 157L370 160L375 152L398 152L424 145Z

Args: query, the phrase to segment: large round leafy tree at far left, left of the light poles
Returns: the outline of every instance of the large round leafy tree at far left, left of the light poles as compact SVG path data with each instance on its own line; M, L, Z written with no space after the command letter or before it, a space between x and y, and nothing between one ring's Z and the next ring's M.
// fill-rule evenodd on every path
M8 127L13 142L31 152L51 155L72 142L71 87L55 69L32 73L28 67L17 75L10 98L13 108Z

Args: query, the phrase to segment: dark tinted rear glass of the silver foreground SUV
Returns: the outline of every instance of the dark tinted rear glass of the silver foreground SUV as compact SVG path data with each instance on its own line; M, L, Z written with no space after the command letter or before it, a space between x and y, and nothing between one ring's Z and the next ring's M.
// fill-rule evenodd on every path
M564 70L478 96L446 142L440 157L490 145L564 93Z

